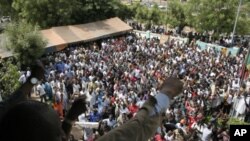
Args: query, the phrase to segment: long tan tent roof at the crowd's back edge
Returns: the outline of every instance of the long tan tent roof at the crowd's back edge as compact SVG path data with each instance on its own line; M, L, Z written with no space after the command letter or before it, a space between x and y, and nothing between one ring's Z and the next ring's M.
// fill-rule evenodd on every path
M93 41L107 36L127 32L132 28L119 18L111 18L87 24L52 27L41 33L48 40L47 47L81 41Z

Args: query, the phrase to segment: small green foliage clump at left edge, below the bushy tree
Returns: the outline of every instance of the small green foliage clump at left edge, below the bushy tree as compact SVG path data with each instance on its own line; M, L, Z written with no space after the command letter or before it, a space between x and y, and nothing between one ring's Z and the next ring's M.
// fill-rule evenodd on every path
M3 99L12 94L19 86L18 67L11 61L3 61L0 67L0 90Z

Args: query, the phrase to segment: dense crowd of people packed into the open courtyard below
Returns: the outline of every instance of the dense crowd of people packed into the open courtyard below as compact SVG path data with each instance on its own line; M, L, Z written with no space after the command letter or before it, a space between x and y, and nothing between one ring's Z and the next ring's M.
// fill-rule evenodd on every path
M46 79L34 92L61 118L73 99L85 95L88 112L79 121L99 123L98 129L83 129L83 140L92 141L133 118L164 78L178 77L184 91L152 141L229 141L230 118L250 122L250 80L242 81L246 55L246 47L230 56L200 50L195 41L161 45L128 34L46 55Z

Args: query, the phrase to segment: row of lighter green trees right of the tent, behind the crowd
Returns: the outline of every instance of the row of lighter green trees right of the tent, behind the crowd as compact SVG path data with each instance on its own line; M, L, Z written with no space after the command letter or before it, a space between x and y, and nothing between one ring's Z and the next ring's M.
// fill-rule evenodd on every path
M238 0L179 0L168 1L166 11L161 11L158 6L148 8L136 4L135 19L149 24L165 24L171 27L186 25L194 27L198 32L214 31L214 35L230 33L233 30ZM238 20L236 34L250 32L250 2L243 1Z

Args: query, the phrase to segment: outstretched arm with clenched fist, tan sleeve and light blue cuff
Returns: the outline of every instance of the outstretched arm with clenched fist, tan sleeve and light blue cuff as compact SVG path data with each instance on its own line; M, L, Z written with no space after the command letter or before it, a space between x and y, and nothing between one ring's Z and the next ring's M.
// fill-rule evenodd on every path
M154 135L163 120L170 100L182 91L182 82L168 78L156 97L150 97L136 116L120 127L100 137L98 141L146 141Z

